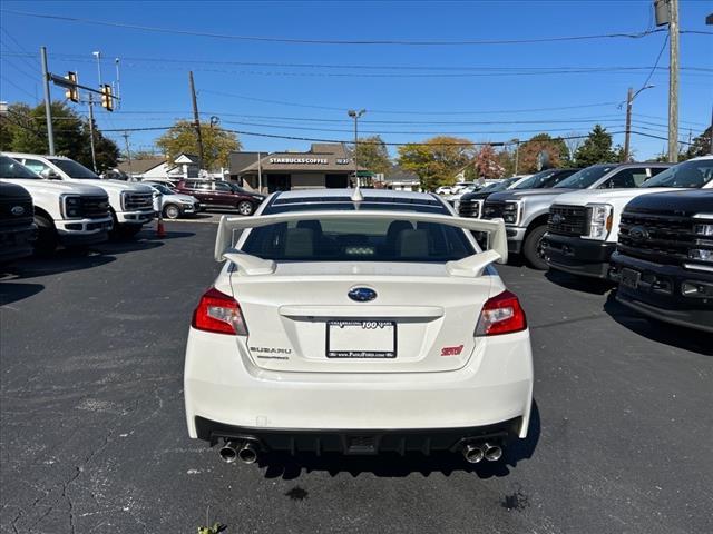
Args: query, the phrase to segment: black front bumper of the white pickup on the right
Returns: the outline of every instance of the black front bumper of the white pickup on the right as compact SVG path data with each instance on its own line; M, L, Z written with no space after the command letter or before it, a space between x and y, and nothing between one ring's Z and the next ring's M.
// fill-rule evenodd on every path
M547 265L573 275L606 279L616 243L595 241L575 236L545 234Z

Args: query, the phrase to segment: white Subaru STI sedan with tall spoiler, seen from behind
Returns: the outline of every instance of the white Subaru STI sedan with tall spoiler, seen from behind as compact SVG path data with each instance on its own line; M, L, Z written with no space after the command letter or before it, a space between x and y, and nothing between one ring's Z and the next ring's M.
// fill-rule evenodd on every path
M223 217L215 254L227 261L193 316L185 403L191 437L224 461L497 461L526 437L529 332L490 265L507 260L501 220L456 217L430 194L277 192L255 217Z

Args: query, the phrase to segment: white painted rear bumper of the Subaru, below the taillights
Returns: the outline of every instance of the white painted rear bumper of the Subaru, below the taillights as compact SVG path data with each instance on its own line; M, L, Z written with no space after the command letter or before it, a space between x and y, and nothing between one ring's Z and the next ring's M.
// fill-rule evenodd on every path
M533 396L529 333L484 343L489 346L481 355L453 372L285 373L256 367L234 336L192 328L184 373L188 433L206 437L198 418L221 428L294 435L467 434L518 419L515 434L525 437Z

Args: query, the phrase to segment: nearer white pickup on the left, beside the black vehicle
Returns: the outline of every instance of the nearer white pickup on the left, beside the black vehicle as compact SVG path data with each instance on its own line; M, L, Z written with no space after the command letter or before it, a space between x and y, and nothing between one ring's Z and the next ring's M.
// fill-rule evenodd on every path
M0 154L0 181L21 186L31 195L37 253L50 254L59 244L80 247L108 239L109 199L98 187L42 180L4 154Z

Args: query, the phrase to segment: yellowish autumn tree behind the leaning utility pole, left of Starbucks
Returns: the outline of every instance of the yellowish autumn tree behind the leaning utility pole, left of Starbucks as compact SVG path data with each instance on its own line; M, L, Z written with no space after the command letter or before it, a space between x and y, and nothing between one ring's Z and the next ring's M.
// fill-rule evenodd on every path
M227 167L228 157L233 150L240 150L241 144L232 131L224 130L208 122L201 122L204 161L203 168L214 170ZM156 140L156 146L163 150L166 159L174 162L180 152L198 155L198 141L193 122L177 121L166 134Z

